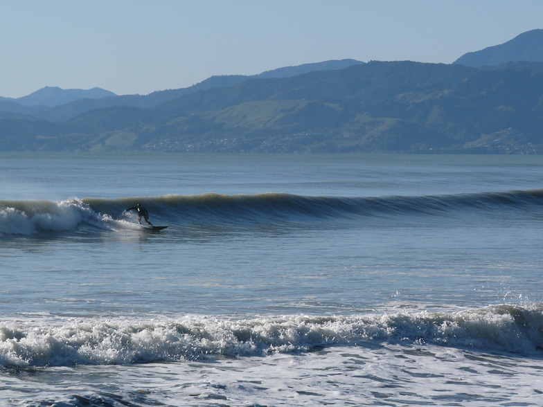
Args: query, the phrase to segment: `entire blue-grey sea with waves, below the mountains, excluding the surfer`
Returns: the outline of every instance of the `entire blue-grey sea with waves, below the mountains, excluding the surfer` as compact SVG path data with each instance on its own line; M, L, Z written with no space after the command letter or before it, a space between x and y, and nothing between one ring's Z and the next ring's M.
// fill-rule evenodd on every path
M1 406L543 405L543 156L0 172Z

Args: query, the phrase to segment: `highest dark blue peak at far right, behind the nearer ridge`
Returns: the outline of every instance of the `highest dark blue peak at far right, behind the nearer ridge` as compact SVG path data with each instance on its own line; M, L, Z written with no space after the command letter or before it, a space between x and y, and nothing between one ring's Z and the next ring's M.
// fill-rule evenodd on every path
M543 62L543 30L527 31L504 44L467 53L454 64L481 67L518 61Z

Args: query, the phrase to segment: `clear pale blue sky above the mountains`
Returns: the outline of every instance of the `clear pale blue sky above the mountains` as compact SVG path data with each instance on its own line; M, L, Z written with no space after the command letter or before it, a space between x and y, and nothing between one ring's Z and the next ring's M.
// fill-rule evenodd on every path
M448 64L542 16L542 0L0 0L0 96L147 94L344 58Z

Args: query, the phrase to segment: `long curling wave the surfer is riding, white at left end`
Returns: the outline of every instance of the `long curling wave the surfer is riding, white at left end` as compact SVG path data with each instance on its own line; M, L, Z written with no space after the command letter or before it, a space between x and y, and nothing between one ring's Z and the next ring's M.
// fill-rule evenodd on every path
M357 217L447 215L454 212L493 212L539 208L543 190L483 192L479 194L393 197L305 197L259 195L168 195L122 199L0 201L0 234L33 235L79 230L117 230L130 227L123 210L136 203L148 208L152 219L168 224L213 224L312 221ZM130 221L129 221L130 220Z

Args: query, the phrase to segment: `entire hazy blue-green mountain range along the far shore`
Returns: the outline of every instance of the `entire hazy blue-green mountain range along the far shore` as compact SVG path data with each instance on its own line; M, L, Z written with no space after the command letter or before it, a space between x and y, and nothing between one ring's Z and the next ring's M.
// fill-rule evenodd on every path
M44 88L0 99L0 151L543 154L542 35L454 64L327 61L146 96Z

